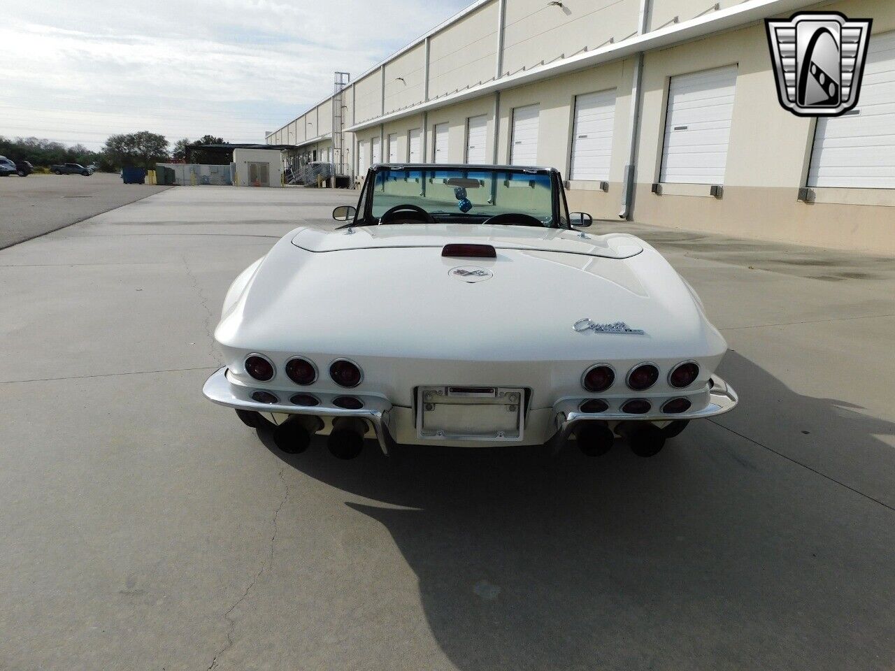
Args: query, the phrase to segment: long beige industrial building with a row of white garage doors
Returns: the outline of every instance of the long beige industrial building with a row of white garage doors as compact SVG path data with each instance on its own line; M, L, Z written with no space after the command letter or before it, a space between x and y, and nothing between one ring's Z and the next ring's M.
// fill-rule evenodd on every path
M780 106L763 20L872 18L847 115ZM379 162L555 166L593 217L895 253L895 2L478 0L268 134Z

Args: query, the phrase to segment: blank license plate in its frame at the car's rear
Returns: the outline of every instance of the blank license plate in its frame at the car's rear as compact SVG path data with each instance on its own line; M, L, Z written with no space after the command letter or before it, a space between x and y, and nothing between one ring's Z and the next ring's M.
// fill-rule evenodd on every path
M430 440L522 440L524 389L424 386L417 392L418 434Z

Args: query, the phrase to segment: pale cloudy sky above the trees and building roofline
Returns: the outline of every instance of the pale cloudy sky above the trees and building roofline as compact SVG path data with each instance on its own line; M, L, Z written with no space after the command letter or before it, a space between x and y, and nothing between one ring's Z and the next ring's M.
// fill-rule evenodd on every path
M472 0L2 0L0 135L265 132Z

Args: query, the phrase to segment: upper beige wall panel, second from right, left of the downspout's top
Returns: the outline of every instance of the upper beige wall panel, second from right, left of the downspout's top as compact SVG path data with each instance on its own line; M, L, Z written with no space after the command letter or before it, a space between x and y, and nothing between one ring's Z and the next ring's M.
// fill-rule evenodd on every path
M658 4L669 4L658 0ZM639 0L564 0L562 7L541 0L508 0L502 72L550 63L584 47L620 41L637 30Z

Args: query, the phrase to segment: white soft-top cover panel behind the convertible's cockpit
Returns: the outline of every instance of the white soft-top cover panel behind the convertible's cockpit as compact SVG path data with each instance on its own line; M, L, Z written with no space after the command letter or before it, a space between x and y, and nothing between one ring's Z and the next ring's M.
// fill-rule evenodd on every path
M499 250L562 251L629 259L644 251L632 235L594 235L565 228L481 224L396 224L326 231L303 228L292 243L307 251L344 251L395 247L442 247L456 243L490 244Z

